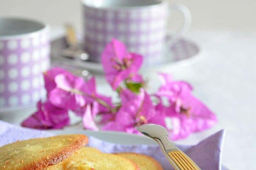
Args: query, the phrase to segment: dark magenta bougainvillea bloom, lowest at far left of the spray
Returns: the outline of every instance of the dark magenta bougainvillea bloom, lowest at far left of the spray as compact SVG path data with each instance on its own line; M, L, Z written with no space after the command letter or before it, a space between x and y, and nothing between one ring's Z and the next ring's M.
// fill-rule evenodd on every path
M34 129L61 129L70 124L67 110L57 108L49 101L39 101L37 109L37 112L22 122L22 126Z

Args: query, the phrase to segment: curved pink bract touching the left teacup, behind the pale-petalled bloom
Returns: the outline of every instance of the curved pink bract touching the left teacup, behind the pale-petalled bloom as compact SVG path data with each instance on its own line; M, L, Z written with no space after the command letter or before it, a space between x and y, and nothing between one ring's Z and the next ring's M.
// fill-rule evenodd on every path
M72 75L72 73L64 70L63 68L58 67L52 68L43 73L45 80L45 89L47 90L48 94L51 90L53 90L56 87L55 77L62 73Z

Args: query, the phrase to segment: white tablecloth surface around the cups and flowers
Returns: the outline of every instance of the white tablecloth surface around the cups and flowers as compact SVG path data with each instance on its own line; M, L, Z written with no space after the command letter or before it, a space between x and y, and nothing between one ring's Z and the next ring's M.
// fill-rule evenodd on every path
M56 38L61 32L53 28L52 37ZM226 129L223 163L232 170L255 170L256 36L232 31L196 31L186 38L200 44L202 57L188 66L174 66L168 71L174 79L193 85L194 95L216 113L219 123L176 143L195 144ZM156 91L157 73L145 76L149 79L148 91ZM96 79L99 92L114 95L102 75L96 75ZM20 124L31 112L0 114L0 119Z

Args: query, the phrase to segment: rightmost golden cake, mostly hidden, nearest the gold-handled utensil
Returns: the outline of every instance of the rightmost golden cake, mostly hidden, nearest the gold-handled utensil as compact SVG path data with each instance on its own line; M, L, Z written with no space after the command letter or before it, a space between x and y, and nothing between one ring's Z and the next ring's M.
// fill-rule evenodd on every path
M116 153L136 163L140 170L163 170L160 163L154 158L139 153Z

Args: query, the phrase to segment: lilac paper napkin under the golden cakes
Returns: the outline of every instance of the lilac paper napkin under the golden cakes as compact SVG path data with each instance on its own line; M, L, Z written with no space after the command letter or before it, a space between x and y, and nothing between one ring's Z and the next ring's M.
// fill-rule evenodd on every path
M46 131L34 130L14 126L0 121L0 146L17 140L52 136ZM220 170L221 152L225 136L225 130L209 136L195 146L176 145L184 151L202 170ZM149 145L120 145L89 137L88 146L98 148L105 153L136 152L152 156L162 164L164 170L173 170L167 159L164 157L159 146Z

